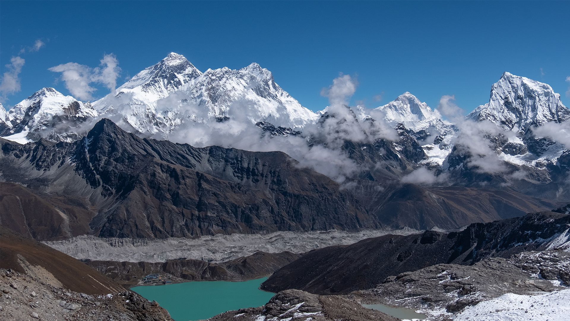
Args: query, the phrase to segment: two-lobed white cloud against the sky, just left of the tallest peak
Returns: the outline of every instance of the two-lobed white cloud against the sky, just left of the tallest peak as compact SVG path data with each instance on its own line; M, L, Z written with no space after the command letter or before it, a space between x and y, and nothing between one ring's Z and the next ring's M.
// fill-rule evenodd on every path
M119 61L113 54L104 55L100 60L102 67L91 68L76 62L63 63L48 70L61 73L61 79L65 83L71 95L80 100L93 99L92 93L96 91L92 83L101 83L112 93L115 92L117 77L121 69Z

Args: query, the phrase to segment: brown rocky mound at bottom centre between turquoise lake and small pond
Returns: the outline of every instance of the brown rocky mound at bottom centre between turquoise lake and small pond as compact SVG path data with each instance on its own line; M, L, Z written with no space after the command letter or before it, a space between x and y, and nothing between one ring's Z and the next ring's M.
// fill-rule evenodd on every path
M210 318L211 321L397 321L380 311L364 308L353 300L339 296L320 296L299 290L276 294L259 308L229 311Z

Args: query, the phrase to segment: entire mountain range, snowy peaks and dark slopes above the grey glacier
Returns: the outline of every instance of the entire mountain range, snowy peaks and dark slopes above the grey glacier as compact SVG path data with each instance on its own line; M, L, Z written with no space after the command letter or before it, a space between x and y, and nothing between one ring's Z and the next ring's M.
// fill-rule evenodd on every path
M0 109L3 206L41 204L59 223L10 218L38 239L458 228L568 203L570 151L536 129L569 121L510 73L467 117L407 92L313 113L257 63L202 73L170 53L92 103L44 88Z

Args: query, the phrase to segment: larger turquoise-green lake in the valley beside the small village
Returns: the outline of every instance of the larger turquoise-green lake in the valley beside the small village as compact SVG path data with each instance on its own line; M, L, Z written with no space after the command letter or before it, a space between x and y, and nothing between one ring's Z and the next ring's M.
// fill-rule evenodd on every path
M202 320L226 311L263 306L275 295L259 290L266 279L243 282L192 281L137 286L131 290L150 301L156 300L176 321Z

